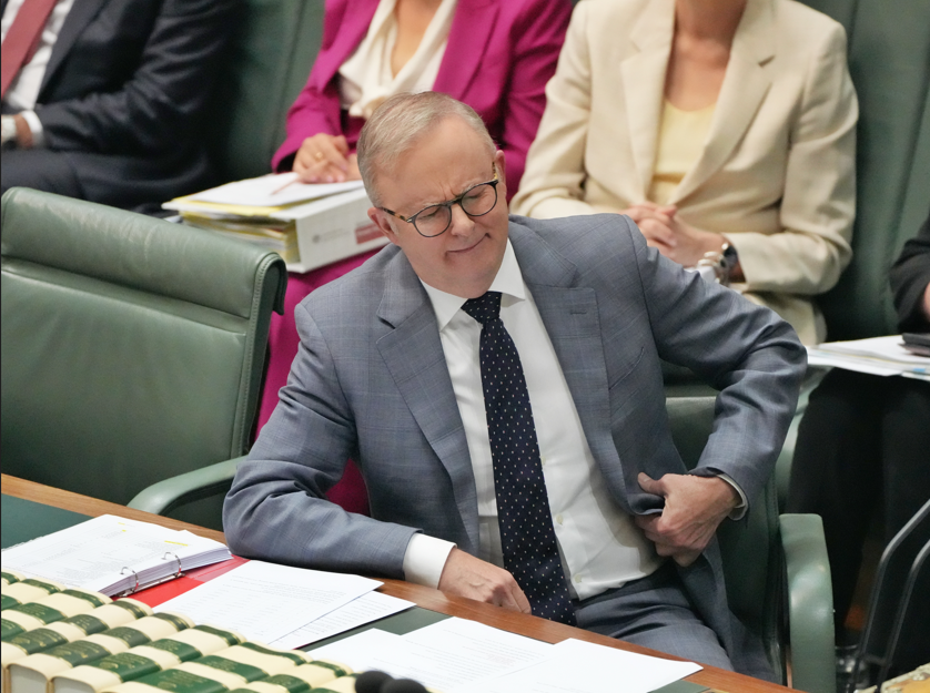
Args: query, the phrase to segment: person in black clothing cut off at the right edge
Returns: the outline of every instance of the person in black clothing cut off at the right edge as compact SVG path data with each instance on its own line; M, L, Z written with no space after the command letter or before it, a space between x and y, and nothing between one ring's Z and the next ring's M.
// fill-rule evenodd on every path
M898 328L930 334L930 217L904 244L890 282ZM823 519L838 643L848 641L845 623L872 516L883 505L888 542L930 499L929 450L930 383L835 368L810 395L787 509ZM917 594L924 625L904 640L903 671L930 654L930 589Z

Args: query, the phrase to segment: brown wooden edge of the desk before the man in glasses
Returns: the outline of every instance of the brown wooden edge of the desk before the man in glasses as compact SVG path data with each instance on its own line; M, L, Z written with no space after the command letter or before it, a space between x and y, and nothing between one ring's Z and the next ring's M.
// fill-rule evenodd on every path
M133 510L125 506L88 498L70 491L63 491L41 483L32 481L24 481L8 475L0 476L0 485L4 496L12 496L14 498L22 498L31 500L46 506L79 512L90 517L98 517L101 514L119 514L133 520L143 520L146 522L156 522L164 527L172 529L186 529L201 537L209 537L218 541L225 542L222 532L218 532L202 527L188 524L170 518L150 514L141 510ZM381 579L381 578L380 578ZM554 623L545 619L537 619L536 616L526 615L523 613L515 613L506 611L492 604L484 604L471 599L463 599L457 597L446 597L438 590L403 582L401 580L384 580L384 587L380 588L385 594L406 599L423 609L431 611L438 611L453 616L463 619L471 619L473 621L481 621L494 628L518 633L528 638L535 638L544 642L556 643L566 638L575 638L577 640L585 640L594 642L608 648L617 648L618 650L627 650L630 652L639 652L641 654L649 654L653 656L660 656L668 660L676 660L678 658L640 648L626 642L614 640L613 638L605 638L588 631L584 631L570 625L563 625L562 623ZM704 670L691 674L686 681L706 686L716 692L722 693L777 693L778 691L787 691L788 689L751 679L741 674L716 669L714 666L706 666ZM690 686L689 686L690 687Z

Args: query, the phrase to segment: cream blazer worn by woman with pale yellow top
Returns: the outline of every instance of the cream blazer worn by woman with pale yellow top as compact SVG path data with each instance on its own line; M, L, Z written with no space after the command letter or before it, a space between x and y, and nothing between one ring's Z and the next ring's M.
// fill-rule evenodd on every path
M646 200L671 48L674 0L575 8L514 212L552 218ZM746 283L805 344L826 326L812 296L851 257L858 103L842 27L793 0L748 0L710 132L669 200L726 234Z

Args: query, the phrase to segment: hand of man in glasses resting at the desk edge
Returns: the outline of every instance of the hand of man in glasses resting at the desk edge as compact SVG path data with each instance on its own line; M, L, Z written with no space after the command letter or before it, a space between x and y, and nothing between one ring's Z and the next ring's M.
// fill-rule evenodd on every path
M439 577L439 591L496 604L512 611L533 613L526 594L503 568L453 548Z

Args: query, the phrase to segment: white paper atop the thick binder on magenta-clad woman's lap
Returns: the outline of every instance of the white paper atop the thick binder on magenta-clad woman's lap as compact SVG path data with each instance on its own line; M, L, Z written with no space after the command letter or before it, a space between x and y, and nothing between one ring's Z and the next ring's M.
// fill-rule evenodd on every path
M205 190L190 196L191 202L246 205L253 207L280 207L295 202L315 200L336 193L362 187L362 181L345 183L295 183L296 173L263 175L257 179L235 181L219 187ZM286 187L285 187L286 186Z

